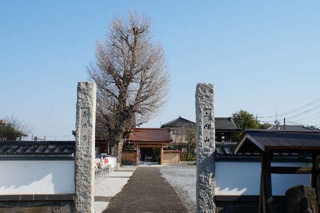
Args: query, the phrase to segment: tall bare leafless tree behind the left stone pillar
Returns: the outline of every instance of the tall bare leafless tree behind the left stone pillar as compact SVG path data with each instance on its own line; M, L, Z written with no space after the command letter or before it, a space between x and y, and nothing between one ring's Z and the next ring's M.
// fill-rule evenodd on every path
M145 14L129 11L127 19L113 18L105 41L96 44L95 61L87 67L97 85L97 120L113 135L118 162L130 128L153 118L166 102L166 59L150 30Z

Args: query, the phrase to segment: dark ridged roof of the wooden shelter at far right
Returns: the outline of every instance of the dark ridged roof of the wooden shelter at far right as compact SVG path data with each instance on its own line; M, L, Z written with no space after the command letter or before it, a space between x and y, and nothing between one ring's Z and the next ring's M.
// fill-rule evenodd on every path
M320 150L320 131L246 129L235 152Z

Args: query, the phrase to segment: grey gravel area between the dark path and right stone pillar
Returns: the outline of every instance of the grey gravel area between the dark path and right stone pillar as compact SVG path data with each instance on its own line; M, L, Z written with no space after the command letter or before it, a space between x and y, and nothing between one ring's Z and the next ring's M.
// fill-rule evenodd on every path
M172 163L160 167L162 176L173 187L189 212L195 212L196 165Z

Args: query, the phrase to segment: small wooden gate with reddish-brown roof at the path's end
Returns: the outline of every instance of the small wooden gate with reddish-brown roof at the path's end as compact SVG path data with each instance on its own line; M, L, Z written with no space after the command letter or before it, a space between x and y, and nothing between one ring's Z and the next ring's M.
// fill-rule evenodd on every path
M139 164L140 148L159 148L159 163L163 162L163 146L172 141L169 128L132 128L127 141L136 144L136 164Z

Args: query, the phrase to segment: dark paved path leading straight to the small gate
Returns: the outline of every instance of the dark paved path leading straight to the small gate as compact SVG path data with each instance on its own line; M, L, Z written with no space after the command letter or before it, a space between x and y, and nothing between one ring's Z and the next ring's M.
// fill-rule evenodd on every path
M160 166L138 166L103 212L187 212Z

